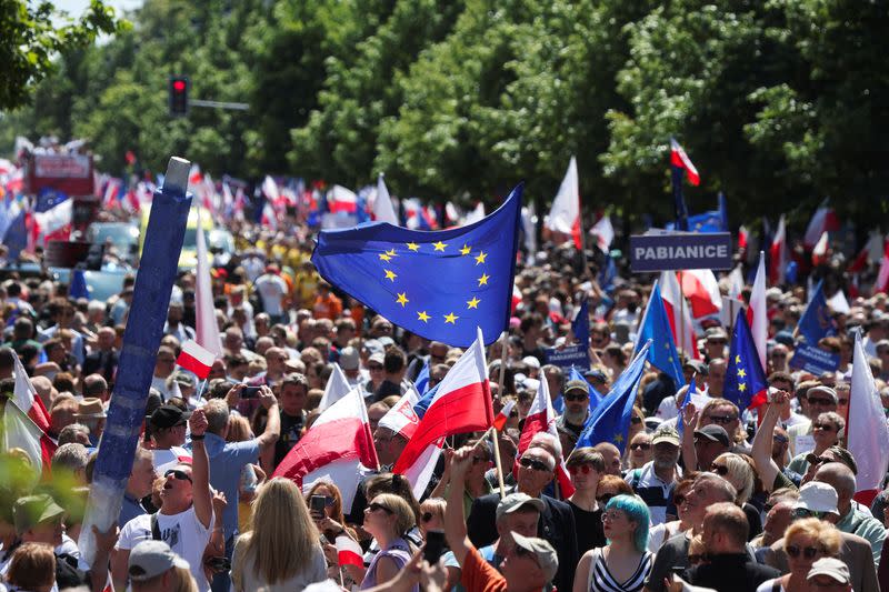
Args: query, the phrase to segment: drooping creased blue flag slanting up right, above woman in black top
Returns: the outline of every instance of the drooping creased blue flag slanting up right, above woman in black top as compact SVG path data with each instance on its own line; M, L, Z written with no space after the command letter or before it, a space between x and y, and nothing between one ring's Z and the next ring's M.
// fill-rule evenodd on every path
M630 433L630 419L632 418L632 405L636 403L636 392L639 390L639 382L642 380L642 372L646 368L646 359L651 342L642 345L630 365L623 371L611 391L602 399L596 411L583 425L580 439L576 448L595 446L601 442L615 444L623 454L627 446L627 438Z

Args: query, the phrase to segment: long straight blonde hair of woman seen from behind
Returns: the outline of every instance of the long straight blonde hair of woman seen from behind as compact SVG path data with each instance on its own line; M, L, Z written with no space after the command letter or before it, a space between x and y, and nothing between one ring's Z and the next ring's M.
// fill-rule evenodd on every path
M240 561L232 570L237 589L243 589L247 555L253 574L268 584L289 580L308 568L319 548L318 529L299 488L289 479L266 482L253 500L250 531L236 543Z

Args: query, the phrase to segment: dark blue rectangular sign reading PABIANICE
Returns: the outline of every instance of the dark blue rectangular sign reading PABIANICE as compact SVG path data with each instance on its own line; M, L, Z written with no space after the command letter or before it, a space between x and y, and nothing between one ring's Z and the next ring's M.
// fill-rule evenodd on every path
M682 269L731 269L729 232L649 232L630 237L633 273Z

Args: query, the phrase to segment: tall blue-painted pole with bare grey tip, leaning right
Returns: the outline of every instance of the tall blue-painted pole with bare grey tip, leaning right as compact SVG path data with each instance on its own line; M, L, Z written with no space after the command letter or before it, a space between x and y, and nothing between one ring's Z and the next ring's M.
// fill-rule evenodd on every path
M171 158L163 187L154 191L151 203L117 381L78 541L88 564L92 564L96 556L91 526L94 524L106 532L117 521L132 471L191 208L191 194L186 192L190 169L189 161Z

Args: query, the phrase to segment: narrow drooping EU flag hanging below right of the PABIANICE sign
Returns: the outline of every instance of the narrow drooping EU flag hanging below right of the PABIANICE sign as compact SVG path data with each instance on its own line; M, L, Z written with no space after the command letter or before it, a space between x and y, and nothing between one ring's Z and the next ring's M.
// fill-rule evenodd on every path
M729 345L729 364L722 397L745 410L766 401L766 371L759 363L759 353L750 334L745 311L738 311Z

